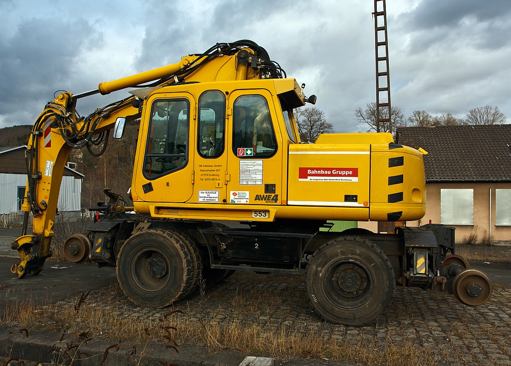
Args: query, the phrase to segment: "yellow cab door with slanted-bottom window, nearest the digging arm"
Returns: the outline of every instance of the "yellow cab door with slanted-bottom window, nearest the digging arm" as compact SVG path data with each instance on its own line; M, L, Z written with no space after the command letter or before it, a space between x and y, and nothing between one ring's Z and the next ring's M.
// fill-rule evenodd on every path
M195 105L190 93L158 93L147 101L135 191L146 202L185 202L193 193ZM139 142L140 143L140 142ZM140 169L142 168L142 169Z

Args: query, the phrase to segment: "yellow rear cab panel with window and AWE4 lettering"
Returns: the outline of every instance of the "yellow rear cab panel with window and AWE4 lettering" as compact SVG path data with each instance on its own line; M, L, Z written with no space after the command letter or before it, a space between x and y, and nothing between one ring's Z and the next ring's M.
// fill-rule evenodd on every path
M265 89L229 94L227 202L281 203L282 135Z

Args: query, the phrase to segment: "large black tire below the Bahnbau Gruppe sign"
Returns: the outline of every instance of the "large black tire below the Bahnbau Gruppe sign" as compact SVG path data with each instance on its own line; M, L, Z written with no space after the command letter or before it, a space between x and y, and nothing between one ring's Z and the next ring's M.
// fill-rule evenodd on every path
M353 293L343 291L341 274L353 271L361 284L356 289L343 284L344 289L353 288L347 290ZM305 286L312 306L324 319L359 326L373 323L388 309L396 279L390 260L377 245L358 237L341 237L316 250L307 265Z

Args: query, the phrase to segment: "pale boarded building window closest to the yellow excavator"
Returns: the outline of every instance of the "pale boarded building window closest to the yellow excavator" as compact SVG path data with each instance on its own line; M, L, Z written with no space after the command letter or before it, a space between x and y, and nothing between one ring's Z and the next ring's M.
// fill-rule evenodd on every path
M473 225L474 190L441 189L440 222L449 225Z

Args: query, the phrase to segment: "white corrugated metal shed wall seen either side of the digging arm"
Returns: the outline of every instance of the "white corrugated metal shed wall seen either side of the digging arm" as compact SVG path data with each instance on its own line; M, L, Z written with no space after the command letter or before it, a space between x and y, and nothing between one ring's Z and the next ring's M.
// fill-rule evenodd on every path
M0 214L18 211L18 187L27 186L27 174L0 173ZM62 177L58 200L59 211L81 211L82 180Z

